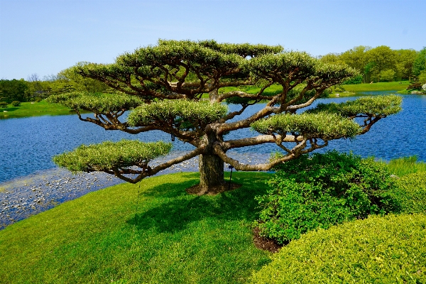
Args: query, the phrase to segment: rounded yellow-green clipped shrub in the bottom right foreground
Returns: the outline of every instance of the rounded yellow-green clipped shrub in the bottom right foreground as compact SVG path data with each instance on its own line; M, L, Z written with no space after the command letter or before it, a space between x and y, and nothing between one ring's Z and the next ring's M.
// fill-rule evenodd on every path
M310 231L250 283L426 283L426 215L403 214Z

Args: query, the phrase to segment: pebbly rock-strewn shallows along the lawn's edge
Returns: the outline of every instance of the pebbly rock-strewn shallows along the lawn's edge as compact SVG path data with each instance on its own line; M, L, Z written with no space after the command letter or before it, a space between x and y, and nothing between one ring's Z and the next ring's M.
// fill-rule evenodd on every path
M180 152L175 152L165 158L155 160L153 165L178 157L181 154ZM233 158L240 160L242 163L264 163L268 155L235 153ZM228 170L228 165L225 165L224 168ZM161 171L158 175L197 171L198 158L192 158L173 165L167 170ZM118 185L122 182L124 181L107 173L77 173L74 175L68 170L54 168L0 183L0 229L51 209L62 202L75 200L89 192Z

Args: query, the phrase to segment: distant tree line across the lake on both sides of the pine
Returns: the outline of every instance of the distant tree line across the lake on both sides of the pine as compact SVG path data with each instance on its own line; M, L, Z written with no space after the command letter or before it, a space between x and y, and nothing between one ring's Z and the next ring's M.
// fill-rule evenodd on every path
M391 82L410 80L414 86L426 83L426 47L420 51L413 49L392 50L386 45L371 48L356 46L344 53L329 53L320 60L330 63L344 63L359 71L359 75L345 84L369 82ZM77 65L84 65L80 62ZM107 84L72 72L71 68L62 70L58 75L37 74L27 80L0 80L0 102L32 102L51 94L63 94L70 91L111 92Z

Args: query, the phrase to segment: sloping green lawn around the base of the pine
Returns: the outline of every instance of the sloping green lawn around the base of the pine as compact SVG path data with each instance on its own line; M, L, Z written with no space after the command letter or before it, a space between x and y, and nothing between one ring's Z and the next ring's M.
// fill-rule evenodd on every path
M243 186L188 195L198 173L122 184L0 231L0 283L244 283L270 262L253 245L255 195L267 173L234 173Z

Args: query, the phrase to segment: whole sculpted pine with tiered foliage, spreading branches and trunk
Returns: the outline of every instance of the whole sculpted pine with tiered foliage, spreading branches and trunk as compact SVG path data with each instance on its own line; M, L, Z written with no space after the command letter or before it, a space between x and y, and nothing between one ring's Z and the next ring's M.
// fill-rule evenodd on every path
M194 150L152 166L151 160L169 153L170 143L104 142L58 155L55 163L72 171L100 170L135 183L198 156L202 193L223 184L224 162L236 170L270 170L323 148L330 140L366 133L378 120L398 112L401 103L397 96L368 97L303 111L324 96L327 88L353 77L356 71L280 46L160 40L158 45L120 55L113 64L84 62L72 70L117 92L72 92L50 97L50 102L71 107L82 121L106 130L133 134L160 130L190 143ZM273 85L280 91L268 92ZM258 92L244 92L247 86L257 87ZM207 101L203 94L208 94ZM239 109L229 111L224 102L237 104ZM266 102L261 110L239 119L259 102ZM81 110L92 111L94 118L83 117ZM125 111L129 115L122 119ZM249 128L258 134L224 137ZM251 165L226 154L230 149L263 143L275 143L283 155Z

